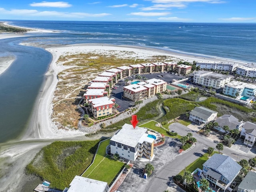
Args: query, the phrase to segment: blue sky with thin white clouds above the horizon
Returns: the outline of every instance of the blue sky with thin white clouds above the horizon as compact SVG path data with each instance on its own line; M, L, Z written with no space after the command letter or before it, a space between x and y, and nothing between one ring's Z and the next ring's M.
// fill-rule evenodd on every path
M256 22L256 0L3 0L0 20Z

